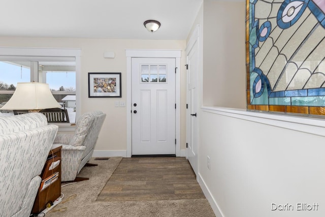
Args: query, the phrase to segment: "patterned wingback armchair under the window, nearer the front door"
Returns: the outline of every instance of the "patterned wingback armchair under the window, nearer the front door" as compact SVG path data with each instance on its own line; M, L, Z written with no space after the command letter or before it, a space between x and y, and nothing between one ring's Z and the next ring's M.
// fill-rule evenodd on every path
M101 111L87 112L76 122L75 134L57 134L53 147L62 145L61 181L80 181L76 178L90 160L106 114Z

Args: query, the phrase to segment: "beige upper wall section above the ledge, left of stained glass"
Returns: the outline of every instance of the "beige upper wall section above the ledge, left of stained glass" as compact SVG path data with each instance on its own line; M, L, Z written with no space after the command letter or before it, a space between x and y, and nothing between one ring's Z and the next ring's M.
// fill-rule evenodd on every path
M245 2L205 0L203 105L246 108Z

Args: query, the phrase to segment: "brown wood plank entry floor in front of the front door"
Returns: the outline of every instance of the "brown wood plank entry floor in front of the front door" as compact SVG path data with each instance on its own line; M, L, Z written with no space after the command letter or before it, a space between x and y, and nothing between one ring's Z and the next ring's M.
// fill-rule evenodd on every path
M97 201L205 198L185 158L123 158Z

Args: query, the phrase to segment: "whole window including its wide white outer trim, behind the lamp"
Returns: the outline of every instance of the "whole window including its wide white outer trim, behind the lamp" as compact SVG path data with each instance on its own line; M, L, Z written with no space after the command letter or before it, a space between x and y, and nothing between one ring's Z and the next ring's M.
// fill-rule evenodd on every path
M17 55L4 55L12 53L11 51L17 51ZM19 52L24 54L26 51L31 51L32 56L18 55ZM44 55L35 55L38 51ZM68 55L64 56L64 53ZM76 97L79 56L80 49L0 48L0 107L10 99L18 82L44 82L49 84L57 102L68 110L70 122L75 122L79 104ZM12 114L12 111L0 111L3 112L2 115Z

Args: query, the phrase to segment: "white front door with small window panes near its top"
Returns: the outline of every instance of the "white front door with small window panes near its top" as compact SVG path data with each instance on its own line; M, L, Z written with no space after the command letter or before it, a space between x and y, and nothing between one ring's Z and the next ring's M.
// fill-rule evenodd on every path
M132 58L132 155L175 154L175 58Z

